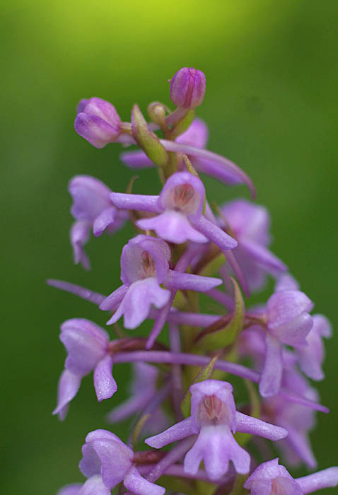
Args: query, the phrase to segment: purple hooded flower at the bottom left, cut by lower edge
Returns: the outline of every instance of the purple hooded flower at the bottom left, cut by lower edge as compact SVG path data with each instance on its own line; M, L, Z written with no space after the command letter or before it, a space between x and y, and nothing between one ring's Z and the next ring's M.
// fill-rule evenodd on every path
M81 472L92 479L100 475L105 487L110 490L123 482L127 490L135 495L163 495L165 488L141 477L134 465L134 452L118 436L107 430L88 433L82 447ZM88 492L96 494L95 491ZM99 494L99 492L97 492Z

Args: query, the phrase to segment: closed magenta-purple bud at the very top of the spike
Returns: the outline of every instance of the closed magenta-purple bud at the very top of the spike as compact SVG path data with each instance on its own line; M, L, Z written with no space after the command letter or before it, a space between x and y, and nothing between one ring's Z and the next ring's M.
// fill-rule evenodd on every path
M183 67L170 81L170 98L177 107L199 107L204 100L205 86L202 71Z

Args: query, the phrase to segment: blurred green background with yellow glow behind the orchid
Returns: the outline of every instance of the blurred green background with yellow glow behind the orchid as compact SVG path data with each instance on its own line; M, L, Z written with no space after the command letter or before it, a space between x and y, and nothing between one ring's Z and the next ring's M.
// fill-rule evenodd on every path
M337 329L337 26L337 0L1 4L1 495L55 494L81 482L86 433L108 427L105 414L127 391L129 368L115 366L112 400L96 401L90 375L66 421L51 414L65 357L59 325L74 317L105 325L107 314L45 279L109 293L132 235L127 226L92 238L93 270L74 267L69 179L95 175L124 191L133 175L120 145L97 150L74 132L81 98L110 100L129 120L133 103L144 112L151 100L170 104L167 81L181 66L202 69L198 115L209 148L255 181L257 202L272 214L272 249ZM134 191L158 194L155 171L139 175ZM245 187L205 183L212 201L248 197ZM338 465L336 333L318 384L332 412L317 414L311 436L319 468ZM129 424L115 433L127 438Z

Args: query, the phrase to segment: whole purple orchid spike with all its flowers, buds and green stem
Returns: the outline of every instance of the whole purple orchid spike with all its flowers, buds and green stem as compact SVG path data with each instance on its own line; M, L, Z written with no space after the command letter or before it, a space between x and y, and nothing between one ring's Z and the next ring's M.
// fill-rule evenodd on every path
M132 363L130 397L108 419L137 420L127 443L108 430L88 433L80 462L87 480L59 495L107 495L115 487L135 495L301 495L338 484L338 467L294 479L260 439L275 442L289 467L315 468L308 436L315 411L327 409L308 378L323 378L322 338L331 328L324 316L310 315L312 301L269 250L267 209L246 199L209 204L200 174L245 184L252 197L255 187L237 165L206 150L208 129L194 116L205 88L202 71L180 69L170 82L176 109L151 103L150 122L137 105L131 123L100 98L78 105L80 136L97 148L138 145L122 162L157 169L162 188L154 196L132 194L132 184L114 192L87 175L69 183L76 263L90 267L84 245L92 230L112 235L129 221L136 235L122 249L122 285L109 296L49 280L112 313L107 325L116 330L111 339L89 320L62 324L68 356L54 414L64 419L91 371L98 401L110 399L117 392L112 366ZM242 294L260 291L267 276L276 281L274 293L245 308ZM216 302L217 314L201 313L200 293ZM117 326L122 316L127 330L154 320L148 338L126 337ZM158 340L165 324L168 345ZM233 376L242 385L233 386Z

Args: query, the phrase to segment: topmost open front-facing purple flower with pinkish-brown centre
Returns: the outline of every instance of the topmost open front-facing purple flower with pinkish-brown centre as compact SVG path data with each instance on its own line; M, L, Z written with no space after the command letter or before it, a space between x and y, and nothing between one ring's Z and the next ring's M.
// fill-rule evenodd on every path
M223 250L233 249L237 241L207 220L203 212L205 190L203 182L189 172L171 175L159 196L142 196L112 192L113 204L120 209L135 209L155 213L150 219L136 222L139 228L153 230L170 243L187 240L195 243L214 242Z

